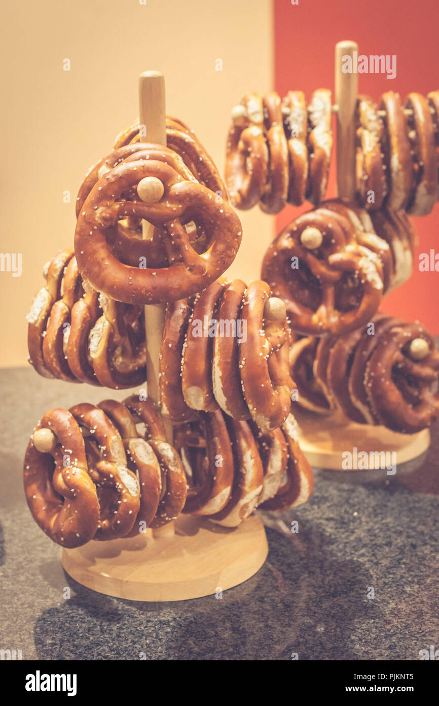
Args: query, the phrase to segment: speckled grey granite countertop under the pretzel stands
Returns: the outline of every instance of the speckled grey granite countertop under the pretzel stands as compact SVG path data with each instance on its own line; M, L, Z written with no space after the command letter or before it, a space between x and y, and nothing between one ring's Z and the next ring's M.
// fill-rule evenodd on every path
M261 515L267 561L222 599L138 603L73 581L23 493L23 455L36 421L51 407L99 402L107 391L24 368L0 371L0 391L2 649L55 660L140 659L141 652L147 659L291 659L295 652L311 660L412 660L439 645L438 425L417 471L373 483L320 471L307 505Z

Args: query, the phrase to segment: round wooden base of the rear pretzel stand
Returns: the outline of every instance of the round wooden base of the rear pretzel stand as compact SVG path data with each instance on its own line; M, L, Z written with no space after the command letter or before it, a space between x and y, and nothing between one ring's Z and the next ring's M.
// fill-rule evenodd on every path
M395 474L391 469L388 472L388 469L382 468L382 459L378 455L373 456L373 452L395 452L396 455L389 455L388 460L395 460L399 473L419 467L430 445L428 429L416 434L400 434L385 426L356 424L339 412L320 415L297 407L294 414L300 429L300 446L314 468L342 471L343 474L351 471L355 475L373 478L390 477ZM368 454L369 462L365 469L361 467L361 462L357 463L359 468L343 468L342 462L346 456L342 454L352 453L352 460L355 461L354 448L357 453L366 451Z

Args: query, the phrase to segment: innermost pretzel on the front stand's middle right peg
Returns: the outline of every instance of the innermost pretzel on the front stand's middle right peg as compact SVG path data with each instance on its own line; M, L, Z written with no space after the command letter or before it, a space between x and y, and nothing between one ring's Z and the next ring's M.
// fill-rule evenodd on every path
M194 411L187 407L182 390L183 344L192 314L187 299L170 301L166 305L159 354L160 411L173 421L194 419Z

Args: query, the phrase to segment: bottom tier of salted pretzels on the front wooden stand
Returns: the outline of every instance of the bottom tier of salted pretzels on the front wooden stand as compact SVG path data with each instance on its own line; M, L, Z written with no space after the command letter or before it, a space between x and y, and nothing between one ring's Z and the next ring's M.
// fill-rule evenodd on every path
M152 402L136 395L52 409L25 455L32 516L71 549L90 539L135 537L180 512L236 527L257 506L280 510L306 501L313 478L292 415L271 432L225 417L200 412L176 427L171 445Z

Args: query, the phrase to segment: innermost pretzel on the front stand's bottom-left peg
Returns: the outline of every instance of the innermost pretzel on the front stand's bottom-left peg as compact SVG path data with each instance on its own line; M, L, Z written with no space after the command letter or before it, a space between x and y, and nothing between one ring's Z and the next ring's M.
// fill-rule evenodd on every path
M159 461L162 490L156 516L149 525L153 529L167 525L179 515L185 505L187 482L177 451L166 441L166 433L159 414L150 400L139 400L132 395L123 400L135 420L145 425L144 438Z

